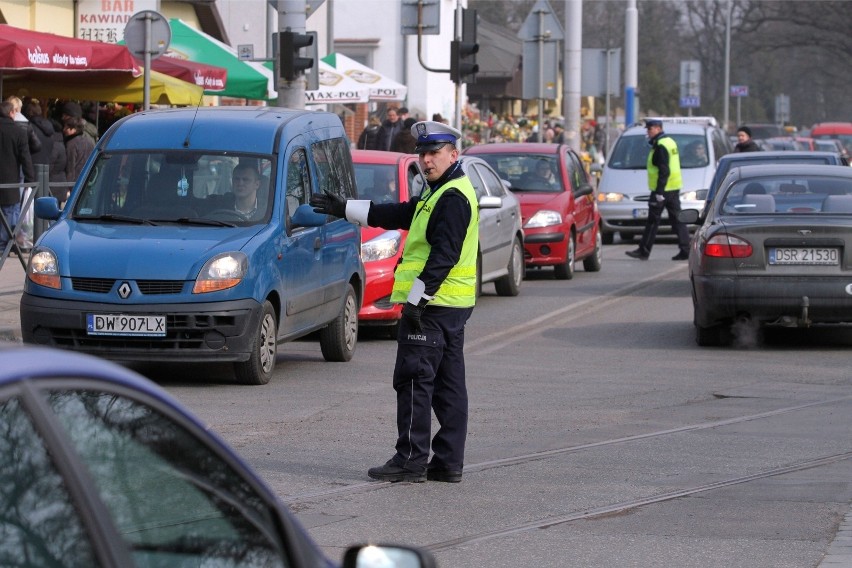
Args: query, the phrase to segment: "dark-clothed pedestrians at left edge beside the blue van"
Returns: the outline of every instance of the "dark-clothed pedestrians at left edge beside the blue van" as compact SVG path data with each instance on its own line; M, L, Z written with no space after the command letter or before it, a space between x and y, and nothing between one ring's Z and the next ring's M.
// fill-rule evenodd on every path
M50 119L36 99L11 96L0 103L0 184L36 181L35 166L48 167L51 183L74 182L95 146L97 130L73 101L59 107L61 120ZM66 192L67 194L67 192ZM0 189L0 253L21 216L24 186ZM32 246L31 235L18 231L18 251Z

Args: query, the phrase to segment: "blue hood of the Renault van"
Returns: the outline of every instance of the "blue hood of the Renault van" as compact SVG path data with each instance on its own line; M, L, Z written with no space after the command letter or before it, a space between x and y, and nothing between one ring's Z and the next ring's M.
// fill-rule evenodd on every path
M64 221L38 245L58 255L63 277L191 280L210 256L241 250L262 228Z

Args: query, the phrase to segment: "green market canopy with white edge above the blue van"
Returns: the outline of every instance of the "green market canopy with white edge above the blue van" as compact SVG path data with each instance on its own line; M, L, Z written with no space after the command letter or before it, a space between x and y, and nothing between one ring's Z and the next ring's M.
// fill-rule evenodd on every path
M226 69L225 88L205 88L205 93L257 100L269 100L278 96L272 72L263 65L240 59L234 48L189 27L180 19L170 19L169 25L172 28L172 40L165 56Z

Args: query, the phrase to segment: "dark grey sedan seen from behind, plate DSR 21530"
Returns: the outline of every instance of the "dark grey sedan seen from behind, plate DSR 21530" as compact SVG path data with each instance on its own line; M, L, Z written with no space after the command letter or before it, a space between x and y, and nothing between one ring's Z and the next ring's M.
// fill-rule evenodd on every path
M731 326L807 327L852 321L852 171L771 164L733 168L689 255L699 345Z

